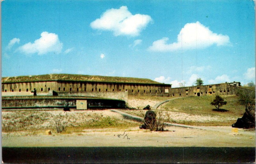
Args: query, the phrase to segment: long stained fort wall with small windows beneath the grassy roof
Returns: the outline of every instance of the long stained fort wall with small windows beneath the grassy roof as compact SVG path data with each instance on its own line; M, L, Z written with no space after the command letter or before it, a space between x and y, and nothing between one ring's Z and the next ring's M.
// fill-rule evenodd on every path
M107 83L107 82L74 82L74 81L46 81L46 82L17 82L2 84L2 92L31 92L36 93L54 90L57 93L87 93L87 92L128 92L128 95L170 96L170 85L135 84L135 83Z

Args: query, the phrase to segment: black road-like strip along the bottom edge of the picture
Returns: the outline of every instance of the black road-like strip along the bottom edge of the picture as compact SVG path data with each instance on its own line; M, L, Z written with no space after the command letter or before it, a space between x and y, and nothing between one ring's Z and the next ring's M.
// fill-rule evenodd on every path
M3 147L4 163L247 163L255 147Z

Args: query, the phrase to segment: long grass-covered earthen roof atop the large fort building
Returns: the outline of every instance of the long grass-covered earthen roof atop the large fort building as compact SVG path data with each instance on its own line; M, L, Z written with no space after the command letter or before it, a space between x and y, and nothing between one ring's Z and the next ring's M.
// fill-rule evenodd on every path
M124 82L124 83L148 83L161 84L147 78L127 78L110 77L96 75L77 75L77 74L46 74L33 76L15 76L3 77L2 82L20 82L20 81L44 81L44 80L74 80L74 81L98 81L98 82Z

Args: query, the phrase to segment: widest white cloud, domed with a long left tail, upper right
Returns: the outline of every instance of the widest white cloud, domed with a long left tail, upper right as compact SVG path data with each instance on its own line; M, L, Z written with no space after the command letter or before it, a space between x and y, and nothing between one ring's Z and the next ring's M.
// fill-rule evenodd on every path
M182 49L205 48L216 44L217 46L230 44L228 35L213 33L209 27L205 27L200 22L187 23L178 34L177 42L168 44L169 38L164 37L154 41L148 48L151 51L175 51Z

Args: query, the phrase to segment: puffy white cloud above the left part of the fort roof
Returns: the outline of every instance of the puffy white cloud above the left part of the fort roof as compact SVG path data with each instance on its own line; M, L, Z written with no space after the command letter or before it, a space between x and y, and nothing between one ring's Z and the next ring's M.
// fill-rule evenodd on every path
M20 51L25 54L43 55L49 52L59 54L61 52L63 44L60 42L57 34L42 32L41 38L34 41L34 43L28 42L23 46L20 46Z

